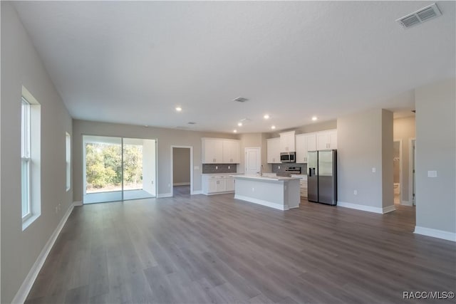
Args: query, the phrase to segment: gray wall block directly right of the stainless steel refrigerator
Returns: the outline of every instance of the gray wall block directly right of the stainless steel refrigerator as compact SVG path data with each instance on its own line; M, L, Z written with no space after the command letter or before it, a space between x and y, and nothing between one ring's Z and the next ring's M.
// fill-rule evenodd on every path
M390 127L383 124L390 123ZM382 208L393 204L393 162L383 166L385 142L390 140L389 155L393 155L393 115L391 112L373 109L346 115L337 120L338 145L338 201ZM372 168L375 167L375 173ZM383 176L383 171L390 174ZM390 180L389 190L383 193L383 183ZM357 190L358 194L353 192ZM383 196L385 196L385 201ZM391 196L391 197L390 197ZM390 201L386 201L390 199ZM386 205L386 206L388 206Z

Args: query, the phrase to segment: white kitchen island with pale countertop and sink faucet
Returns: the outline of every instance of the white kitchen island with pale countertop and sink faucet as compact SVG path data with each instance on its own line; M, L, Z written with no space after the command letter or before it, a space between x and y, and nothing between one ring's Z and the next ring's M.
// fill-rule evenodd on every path
M234 175L234 199L279 210L298 208L299 177L266 177L259 175Z

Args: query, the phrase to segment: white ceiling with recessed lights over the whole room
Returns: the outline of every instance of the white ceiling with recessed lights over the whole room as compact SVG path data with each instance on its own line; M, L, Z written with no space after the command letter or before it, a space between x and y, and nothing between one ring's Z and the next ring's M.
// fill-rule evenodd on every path
M455 77L455 1L437 1L442 16L422 25L404 30L395 22L432 3L14 5L74 118L270 132L271 124L308 125L313 115L408 112L413 88ZM239 96L249 101L232 101ZM237 127L243 118L250 121Z

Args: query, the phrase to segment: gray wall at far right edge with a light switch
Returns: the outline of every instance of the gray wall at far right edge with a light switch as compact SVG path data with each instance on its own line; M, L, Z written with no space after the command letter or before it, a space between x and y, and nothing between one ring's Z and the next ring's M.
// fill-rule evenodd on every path
M415 90L416 226L456 232L455 79ZM437 177L427 177L428 170Z

